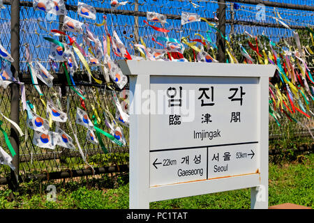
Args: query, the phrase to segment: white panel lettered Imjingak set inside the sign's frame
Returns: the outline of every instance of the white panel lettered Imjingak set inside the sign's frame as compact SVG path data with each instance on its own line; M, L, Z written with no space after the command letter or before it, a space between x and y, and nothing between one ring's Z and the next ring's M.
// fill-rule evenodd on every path
M151 95L159 98L150 104L157 108L149 119L150 186L255 174L257 83L152 76Z

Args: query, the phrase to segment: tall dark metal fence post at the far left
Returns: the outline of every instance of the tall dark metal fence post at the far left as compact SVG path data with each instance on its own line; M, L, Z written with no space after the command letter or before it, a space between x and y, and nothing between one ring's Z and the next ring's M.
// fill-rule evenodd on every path
M11 71L16 79L20 74L20 0L11 1L11 55L14 63L11 63ZM17 124L20 124L20 85L17 83L10 84L10 118ZM10 173L9 186L13 191L19 187L18 177L20 171L20 140L17 129L11 125L10 143L12 144L16 155L13 157L15 171Z

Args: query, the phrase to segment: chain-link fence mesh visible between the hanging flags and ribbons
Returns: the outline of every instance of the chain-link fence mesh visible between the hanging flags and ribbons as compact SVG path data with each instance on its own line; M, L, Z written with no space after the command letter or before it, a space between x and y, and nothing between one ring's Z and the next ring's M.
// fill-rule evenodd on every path
M103 23L103 16L107 19L107 29L109 33L117 31L118 36L124 42L130 54L139 54L135 51L135 43L145 43L148 46L160 48L152 38L160 36L158 31L151 29L144 20L147 20L147 12L161 13L167 16L165 29L170 30L168 35L171 38L181 40L182 37L196 38L195 34L202 36L211 42L211 53L216 58L218 56L217 36L220 35L216 30L209 29L207 22L192 22L181 25L181 13L197 13L201 17L206 18L209 22L224 24L225 36L230 37L230 46L224 46L232 49L237 60L241 63L244 56L239 53L239 41L249 49L248 42L245 40L248 35L267 36L278 45L287 47L292 44L292 31L287 29L283 24L278 23L274 17L280 16L292 29L297 30L302 45L311 45L308 33L305 31L306 26L313 26L313 1L267 1L265 5L258 5L260 1L154 1L154 0L132 0L124 6L112 9L110 0L89 1L84 3L96 8L96 21L86 20L77 15L77 1L65 1L68 16L83 22L89 26L89 29L100 40L105 33L104 26L96 26ZM0 41L1 45L10 52L10 1L3 1L3 8L0 10ZM276 3L271 6L271 3ZM278 3L278 4L277 4ZM220 6L225 6L225 17L219 10ZM220 12L220 13L219 13ZM224 22L225 21L225 22ZM50 30L61 30L63 24L63 16L53 16L40 10L33 9L33 1L20 1L20 81L25 83L25 93L30 105L37 111L39 116L45 117L45 107L41 102L38 92L31 84L31 77L27 67L28 47L33 61L40 63L54 74L54 89L48 88L46 85L40 84L43 91L45 101L59 101L63 111L69 109L69 119L73 126L75 125L75 113L77 107L82 107L82 100L72 91L66 78L63 77L63 70L57 66L52 66L54 61L48 57L50 52L50 43L44 37L56 38ZM220 27L220 26L218 26ZM77 43L84 43L83 33L71 33L76 38ZM66 42L65 37L57 36L61 41ZM285 41L283 41L285 40ZM228 48L230 47L230 48ZM264 47L264 46L260 46ZM313 46L312 46L313 47ZM114 54L114 59L119 59ZM313 69L313 55L306 55L306 60L310 61L309 68ZM192 58L193 60L193 58ZM228 55L225 53L225 60L229 61ZM89 82L87 74L83 69L82 63L79 63L79 72L76 72L75 83L84 91L86 100L85 107L89 114L94 114L93 107L98 111L100 118L99 128L110 131L105 125L105 116L103 108L109 109L115 114L115 107L112 104L111 91L112 87L107 84L95 84ZM54 70L52 70L54 67ZM97 68L93 68L92 72L97 79L104 79L103 75ZM112 85L109 85L112 86ZM0 109L4 116L10 117L10 86L7 89L0 88L1 99ZM311 102L313 106L313 102ZM96 117L95 117L96 118ZM308 137L311 139L311 131L313 131L313 118L303 118L301 115L297 117L299 124L290 122L286 117L280 120L280 126L273 118L270 117L269 136L270 139L295 139L295 137ZM94 121L94 120L93 120ZM74 176L84 176L93 174L86 163L82 160L79 151L71 151L67 148L57 146L54 150L39 148L32 143L33 130L27 128L27 112L23 111L20 105L20 128L24 131L24 136L20 137L20 176L22 180L29 178L43 178L45 180L52 178L65 178ZM55 123L52 129L55 128ZM10 132L10 123L4 121L1 125L5 132ZM74 134L69 123L61 124L61 128L65 130L71 137ZM82 151L87 157L87 162L95 167L96 174L105 174L112 171L126 171L128 164L128 144L118 147L112 144L112 141L102 136L105 150L100 145L88 143L86 140L86 130L82 126L75 126L76 135L82 146ZM128 140L128 128L124 128L124 134ZM7 151L7 146L3 135L0 136L0 145ZM115 167L115 168L111 168ZM107 168L107 169L106 169ZM111 168L111 169L110 169ZM85 172L84 172L85 171ZM0 167L0 183L8 183L10 169L8 167Z

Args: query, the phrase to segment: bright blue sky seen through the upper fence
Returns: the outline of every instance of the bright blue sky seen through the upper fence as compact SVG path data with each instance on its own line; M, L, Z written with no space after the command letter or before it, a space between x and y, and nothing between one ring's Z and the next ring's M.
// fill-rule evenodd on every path
M121 0L120 0L121 1ZM87 3L94 7L99 8L110 8L110 0L103 0L103 1L89 1L84 0L84 3ZM120 6L119 10L133 10L133 2L134 0L130 0L130 3L126 6ZM153 0L139 0L140 6L139 11L147 12L147 11L154 11L157 13L162 14L172 14L172 15L181 15L181 12L190 12L190 13L197 13L201 17L209 17L213 18L215 16L214 12L218 8L218 4L216 1L193 1L198 6L198 8L194 8L193 5L189 1L153 1ZM294 3L294 4L306 4L308 6L313 6L314 1L292 1L292 0L281 0L277 1L281 3ZM77 1L66 1L69 5L77 5ZM242 3L237 3L241 8L239 10L235 10L234 18L235 20L245 20L251 22L259 22L257 21L257 13L259 10L256 6L247 5ZM313 26L313 12L310 11L300 11L300 10L287 10L278 8L278 13L280 13L281 17L287 24L291 25L298 25L298 26ZM230 3L227 3L227 20L231 18L230 13ZM87 22L91 24L90 29L94 31L97 36L101 37L104 33L103 27L96 27L94 26L93 20L84 19L77 15L77 12L68 11L68 16L72 17L75 20L80 20L81 22ZM274 8L266 7L266 21L268 23L276 23L276 21L272 18L274 17ZM33 54L34 59L38 59L45 63L47 61L47 55L49 54L49 46L50 43L47 43L46 40L43 38L48 36L47 32L37 24L37 20L39 19L41 26L44 26L45 29L59 29L59 23L51 22L46 20L46 14L41 11L34 11L33 8L26 8L22 7L20 12L20 19L21 19L21 61L22 66L21 69L24 70L26 66L24 65L25 59L23 58L24 54L24 47L25 43L30 45L31 53ZM103 15L97 13L97 20L96 22L101 23L103 20ZM164 36L163 33L159 33L154 31L153 29L147 27L144 24L144 20L147 20L146 17L139 18L139 25L140 28L139 34L144 39L145 43L150 47L160 48L160 46L155 45L151 41L151 37L156 38L157 36ZM10 52L10 6L6 6L5 9L0 10L0 43L8 49ZM133 40L130 38L131 34L134 34L134 18L132 16L127 15L107 15L107 22L108 28L110 32L112 29L115 29L121 40L125 43L128 47L128 50L132 54L132 49L130 49L130 43ZM160 26L160 24L155 24L156 26ZM181 27L180 20L167 20L167 24L165 24L165 29L170 29L169 36L172 38L179 39L181 36L190 36L190 38L194 38L195 33L200 33L202 36L206 37L207 31L211 31L209 33L209 37L214 42L216 41L216 34L214 33L214 29L209 29L209 26L205 22L193 22L190 24L186 24ZM227 25L226 31L230 33L231 26ZM235 33L243 33L244 31L248 31L248 33L252 33L253 35L257 34L266 34L269 36L271 40L277 41L281 37L291 36L292 31L287 29L273 29L273 28L264 28L259 26L234 26ZM126 33L126 34L124 34ZM69 33L70 36L73 36L73 33ZM57 38L57 37L56 37ZM195 37L198 38L198 37ZM101 38L100 38L101 40ZM82 43L82 34L77 35L77 41Z

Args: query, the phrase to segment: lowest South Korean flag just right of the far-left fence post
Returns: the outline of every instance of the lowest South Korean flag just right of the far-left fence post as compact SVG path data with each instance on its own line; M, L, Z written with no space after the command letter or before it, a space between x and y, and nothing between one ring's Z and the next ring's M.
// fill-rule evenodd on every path
M58 134L56 132L49 131L47 134L38 131L33 132L33 145L40 148L54 149L57 145L57 140Z

